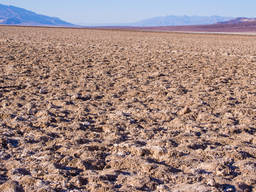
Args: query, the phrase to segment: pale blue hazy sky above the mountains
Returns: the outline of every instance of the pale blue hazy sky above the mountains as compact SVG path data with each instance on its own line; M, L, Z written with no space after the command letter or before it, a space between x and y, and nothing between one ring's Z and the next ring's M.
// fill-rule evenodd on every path
M136 22L157 16L256 17L256 0L0 0L72 23Z

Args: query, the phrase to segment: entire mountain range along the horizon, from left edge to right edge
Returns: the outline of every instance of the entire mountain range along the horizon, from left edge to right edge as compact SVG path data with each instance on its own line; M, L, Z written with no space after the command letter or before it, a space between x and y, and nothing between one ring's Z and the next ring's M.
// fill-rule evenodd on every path
M217 15L200 17L200 16L175 16L169 15L166 17L153 17L150 19L140 20L138 22L132 23L118 23L118 24L71 24L59 19L58 17L49 17L46 15L36 14L25 10L23 8L18 8L16 6L6 6L0 4L0 24L2 25L18 25L18 26L65 26L65 27L82 27L82 26L127 26L127 27L164 27L164 26L200 26L202 25L221 25L221 24L241 24L244 22L250 22L250 26L253 26L255 19L249 19L245 17L221 17ZM193 29L198 27L192 27ZM180 27L179 27L180 28ZM191 28L191 29L192 29ZM204 27L205 28L205 27ZM208 28L208 27L207 27ZM211 27L212 28L212 27ZM216 27L214 27L216 28ZM221 26L220 28L223 28ZM181 28L180 28L181 29Z

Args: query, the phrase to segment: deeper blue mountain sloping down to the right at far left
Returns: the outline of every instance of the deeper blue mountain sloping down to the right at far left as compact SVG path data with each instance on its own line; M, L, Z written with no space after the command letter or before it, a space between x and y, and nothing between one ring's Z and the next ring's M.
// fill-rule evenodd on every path
M0 4L0 24L20 26L74 26L57 17L38 15L34 12Z

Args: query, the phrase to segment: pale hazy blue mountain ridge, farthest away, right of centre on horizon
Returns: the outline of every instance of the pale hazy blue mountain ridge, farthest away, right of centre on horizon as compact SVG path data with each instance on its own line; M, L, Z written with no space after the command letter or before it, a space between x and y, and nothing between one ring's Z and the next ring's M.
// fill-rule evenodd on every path
M223 22L233 19L233 17L220 17L212 15L211 17L200 16L175 16L170 15L166 17L153 17L151 19L141 20L134 22L130 26L150 27L150 26L191 26L191 25L204 25L214 24L215 22Z

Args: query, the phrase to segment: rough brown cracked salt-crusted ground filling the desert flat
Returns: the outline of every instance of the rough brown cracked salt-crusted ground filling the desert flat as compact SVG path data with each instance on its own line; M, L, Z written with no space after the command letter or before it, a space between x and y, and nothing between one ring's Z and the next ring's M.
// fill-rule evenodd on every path
M256 191L256 36L0 32L0 191Z

